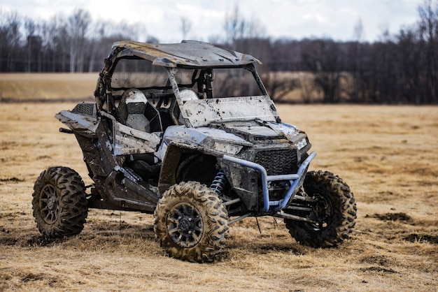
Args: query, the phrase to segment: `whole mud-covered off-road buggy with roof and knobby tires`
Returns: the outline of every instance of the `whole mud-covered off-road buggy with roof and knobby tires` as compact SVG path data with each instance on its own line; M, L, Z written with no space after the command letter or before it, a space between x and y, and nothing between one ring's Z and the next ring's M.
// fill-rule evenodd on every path
M44 170L32 199L38 230L76 235L88 208L150 213L167 254L199 263L225 254L229 226L246 217L283 218L311 247L343 242L353 194L336 175L308 171L316 153L281 122L259 63L198 41L114 43L95 102L55 115L94 183L64 166Z

